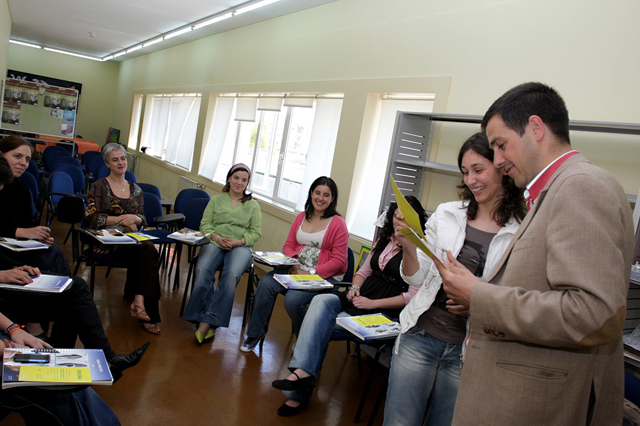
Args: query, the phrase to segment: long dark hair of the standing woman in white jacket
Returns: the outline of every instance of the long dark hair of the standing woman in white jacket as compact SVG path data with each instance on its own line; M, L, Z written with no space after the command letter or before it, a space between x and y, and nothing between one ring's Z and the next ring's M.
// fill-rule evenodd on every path
M466 140L458 152L458 168L462 171L462 157L467 151L473 151L483 156L493 164L493 150L489 146L489 140L484 133L478 132ZM498 199L497 206L491 210L491 218L500 226L505 226L513 216L518 223L527 214L524 204L523 190L518 188L509 176L502 177L502 187L504 193ZM473 196L473 192L465 185L464 179L458 185L458 194L464 201L468 201L467 218L473 220L478 215L478 202Z

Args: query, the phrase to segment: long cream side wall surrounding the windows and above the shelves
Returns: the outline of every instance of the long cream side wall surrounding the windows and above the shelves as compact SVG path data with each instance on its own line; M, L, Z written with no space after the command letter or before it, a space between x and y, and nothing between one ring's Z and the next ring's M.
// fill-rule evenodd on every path
M436 111L482 114L505 90L537 80L560 91L572 119L638 122L640 57L633 53L640 40L639 14L640 3L632 0L339 0L123 62L113 122L129 128L134 93L343 91L332 176L344 212L351 189L366 185L353 170L363 158L359 141L366 139L362 119L371 91L437 86ZM454 164L462 140L474 130L444 129L431 160ZM201 123L197 159L203 134ZM590 158L602 158L614 173L624 168L618 178L627 192L637 193L640 140L599 138L602 143L589 146ZM612 151L620 154L612 158ZM154 175L142 169L141 179L162 179L173 195L184 172L167 172L142 156L140 164L147 162L154 163ZM219 189L195 171L188 175ZM434 174L423 197L427 208L456 198L459 179ZM264 210L269 235L262 242L274 247L284 239L292 215L270 206Z

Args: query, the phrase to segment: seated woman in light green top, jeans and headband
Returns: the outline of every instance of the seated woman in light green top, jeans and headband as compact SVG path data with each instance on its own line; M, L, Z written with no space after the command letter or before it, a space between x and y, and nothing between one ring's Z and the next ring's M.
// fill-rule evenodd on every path
M262 212L247 193L251 170L236 164L227 173L222 194L209 201L200 231L211 244L200 249L196 279L183 318L196 324L196 340L212 340L218 327L228 327L240 277L251 265L251 247L262 234ZM215 273L224 265L217 288Z

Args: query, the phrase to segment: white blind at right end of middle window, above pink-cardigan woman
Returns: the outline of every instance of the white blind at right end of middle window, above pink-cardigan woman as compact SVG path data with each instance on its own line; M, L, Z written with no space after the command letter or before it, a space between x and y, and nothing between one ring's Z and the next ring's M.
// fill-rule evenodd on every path
M285 101L286 103L286 101ZM296 210L304 210L309 186L320 176L329 176L333 163L333 152L338 137L338 125L342 111L342 99L318 99L316 101L316 115L313 119L307 163Z

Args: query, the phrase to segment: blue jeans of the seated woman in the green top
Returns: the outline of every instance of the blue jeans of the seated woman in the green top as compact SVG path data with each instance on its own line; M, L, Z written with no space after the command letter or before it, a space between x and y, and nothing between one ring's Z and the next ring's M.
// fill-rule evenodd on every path
M216 271L223 263L220 281L214 289ZM205 322L212 327L228 327L236 286L249 265L249 247L223 250L215 244L203 246L198 254L195 284L183 318L193 323Z

